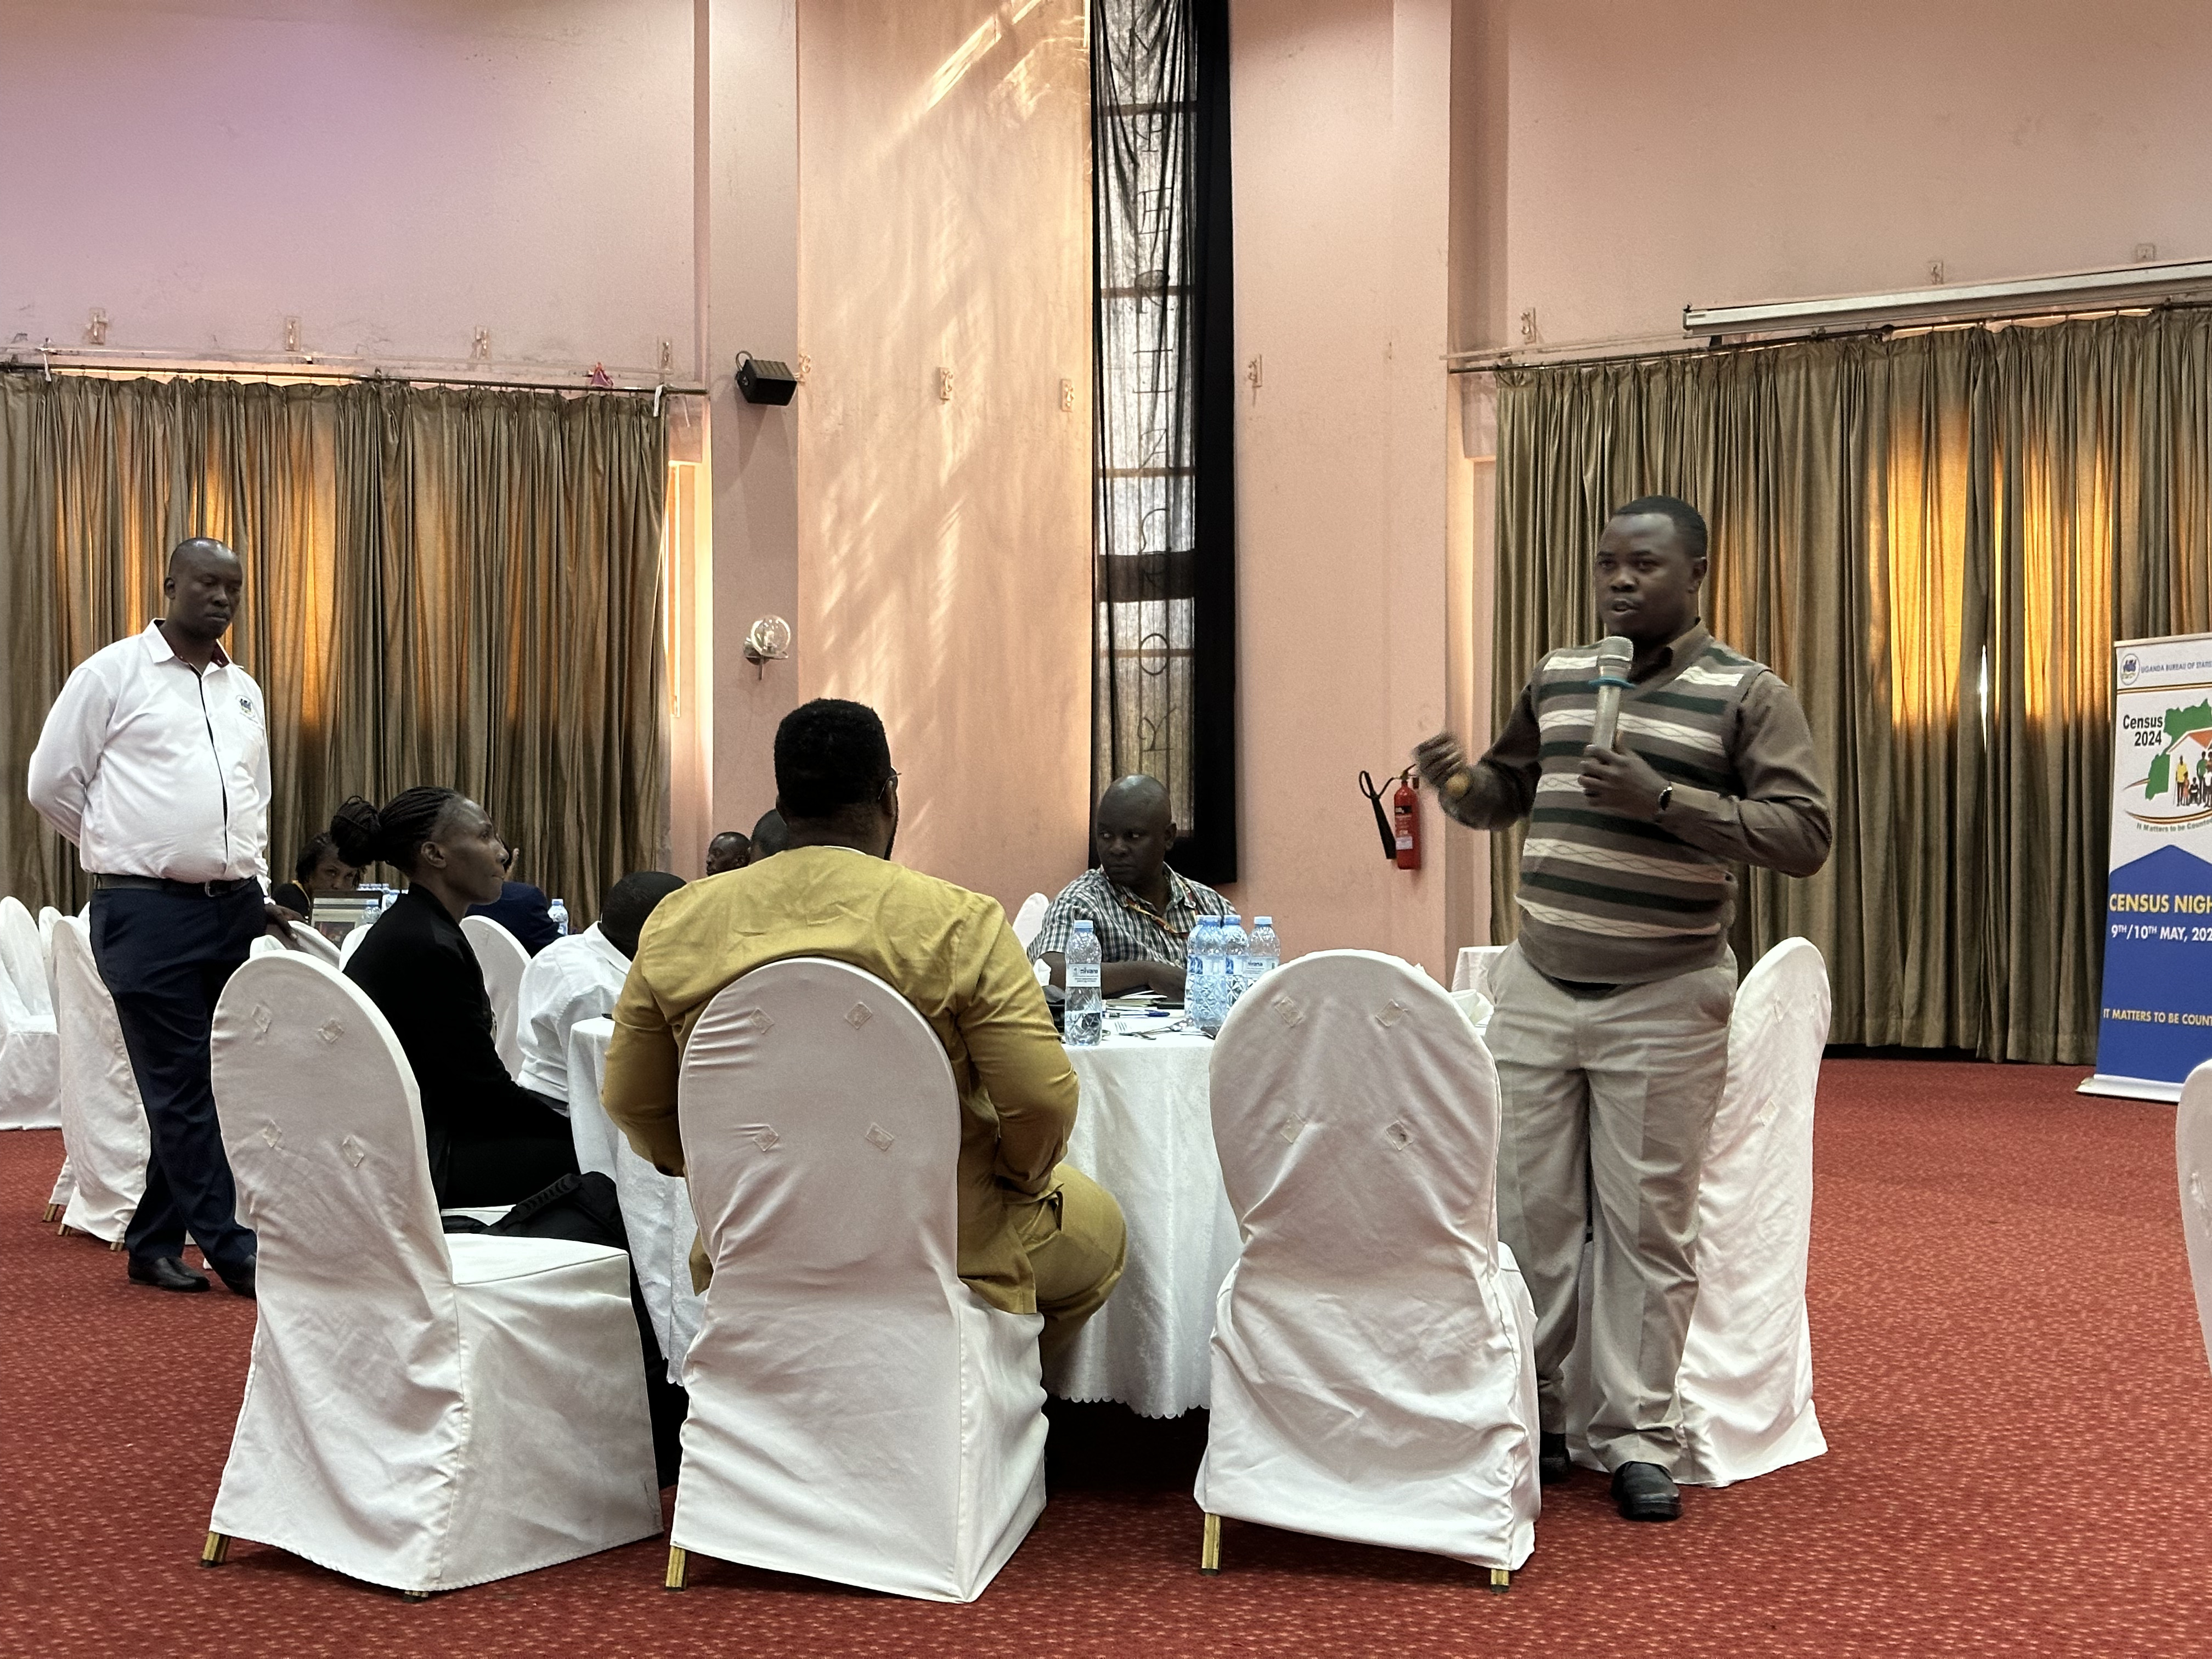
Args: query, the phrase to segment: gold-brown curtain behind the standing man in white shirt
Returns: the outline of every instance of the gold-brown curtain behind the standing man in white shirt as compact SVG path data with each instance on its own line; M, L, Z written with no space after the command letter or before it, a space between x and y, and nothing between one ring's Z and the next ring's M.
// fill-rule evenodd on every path
M347 794L442 783L568 900L659 858L661 418L641 398L0 376L0 880L80 905L22 776L53 695L159 613L168 549L246 562L270 867Z

